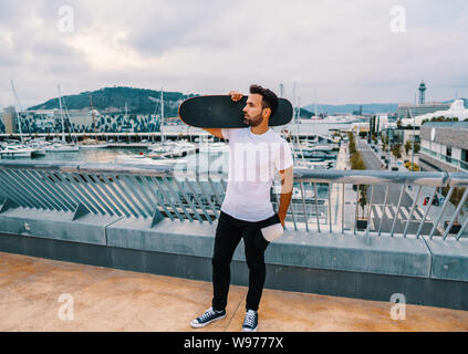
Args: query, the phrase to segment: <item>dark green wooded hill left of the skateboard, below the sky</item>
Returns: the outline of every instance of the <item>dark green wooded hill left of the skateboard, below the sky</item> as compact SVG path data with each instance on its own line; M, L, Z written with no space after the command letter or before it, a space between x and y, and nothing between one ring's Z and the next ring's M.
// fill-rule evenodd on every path
M91 101L93 107L100 113L125 112L125 103L128 114L159 114L160 91L134 88L134 87L104 87L97 91L85 91L76 95L63 96L62 102L67 110L90 110ZM164 115L166 117L177 116L177 110L181 101L195 96L184 95L180 92L164 91ZM49 100L42 104L29 107L28 110L53 110L59 108L59 97Z

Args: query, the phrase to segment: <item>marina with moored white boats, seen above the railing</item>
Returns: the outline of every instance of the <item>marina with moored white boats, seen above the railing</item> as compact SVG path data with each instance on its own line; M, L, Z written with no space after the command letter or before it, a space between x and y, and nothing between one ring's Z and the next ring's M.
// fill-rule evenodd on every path
M290 127L290 132L298 131L294 135L282 133L282 136L290 140L295 162L302 164L302 166L333 168L339 146L333 142L329 128L336 128L336 125L311 123L298 126L291 125ZM351 128L350 125L345 124L337 126L343 132ZM275 128L275 131L280 133L280 129ZM190 158L190 156L197 154L209 153L217 156L218 153L228 154L229 152L228 145L219 142L218 138L214 138L201 129L187 133L185 126L181 125L165 126L164 134L96 133L97 139L86 138L82 134L72 134L72 140L79 142L77 144L63 143L59 140L60 136L60 134L38 134L37 137L31 138L24 134L21 136L10 134L7 140L7 136L0 135L0 139L3 138L0 143L2 144L0 155L2 158L31 158L50 162L70 160L72 158L75 162L113 163L118 158L122 163L131 162L131 157L139 162L144 160L143 157L146 158L145 162L167 158L176 160L180 157ZM81 140L83 137L85 139ZM19 140L14 138L24 138L32 152L35 149L41 150L41 153L14 154L13 152L19 149L17 146ZM17 144L13 144L13 142L17 142ZM10 148L4 149L7 146L10 146ZM215 163L219 156L211 159L211 155L209 160Z

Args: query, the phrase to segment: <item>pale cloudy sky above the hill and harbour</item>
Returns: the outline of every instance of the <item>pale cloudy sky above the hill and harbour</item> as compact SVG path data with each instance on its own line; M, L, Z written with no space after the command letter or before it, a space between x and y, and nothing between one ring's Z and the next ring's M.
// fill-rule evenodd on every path
M466 0L0 0L0 106L105 86L301 105L468 97Z

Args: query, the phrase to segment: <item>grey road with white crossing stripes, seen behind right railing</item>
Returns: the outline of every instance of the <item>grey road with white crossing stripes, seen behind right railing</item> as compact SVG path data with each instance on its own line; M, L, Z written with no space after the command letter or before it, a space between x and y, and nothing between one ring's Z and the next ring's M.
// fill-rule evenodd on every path
M361 152L363 160L370 170L381 170L382 162L371 146L364 139L357 139L357 150ZM370 230L378 231L382 220L382 232L391 232L392 227L397 214L398 199L402 190L402 186L389 186L387 202L385 204L385 192L387 186L374 186L374 196L372 200L372 221ZM371 200L371 188L367 190L367 198ZM402 204L398 212L398 217L395 221L394 232L403 233L409 218L409 214L413 206L413 198L407 194L406 188L402 196ZM416 235L419 223L423 220L424 210L420 206L416 206L415 211L409 221L407 233ZM362 212L362 210L360 210ZM429 235L433 229L433 220L426 218L424 222L422 233ZM436 230L435 235L439 235Z

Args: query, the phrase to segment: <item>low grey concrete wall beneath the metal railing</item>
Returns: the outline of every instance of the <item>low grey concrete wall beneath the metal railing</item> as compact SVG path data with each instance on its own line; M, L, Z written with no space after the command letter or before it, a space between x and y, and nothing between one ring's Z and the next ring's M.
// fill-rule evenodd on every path
M216 222L0 212L0 251L211 280ZM437 241L285 231L266 251L267 288L468 310L468 240ZM247 285L243 244L232 283Z

